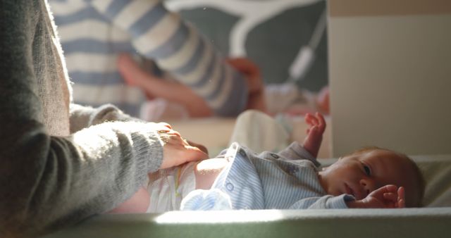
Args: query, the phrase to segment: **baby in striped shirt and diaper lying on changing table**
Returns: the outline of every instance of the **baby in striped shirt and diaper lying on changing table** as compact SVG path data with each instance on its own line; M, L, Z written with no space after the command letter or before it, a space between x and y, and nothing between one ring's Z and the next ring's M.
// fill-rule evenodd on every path
M149 174L149 186L112 212L420 206L424 182L407 156L371 147L319 170L326 122L320 113L305 120L302 146L255 154L234 143L216 158Z

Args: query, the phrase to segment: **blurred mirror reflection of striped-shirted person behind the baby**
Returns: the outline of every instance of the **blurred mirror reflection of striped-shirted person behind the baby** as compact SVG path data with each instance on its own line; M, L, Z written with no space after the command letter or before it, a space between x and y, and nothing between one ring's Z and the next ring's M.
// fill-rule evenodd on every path
M266 111L299 142L305 113L328 114L326 1L49 3L75 103L168 121L212 152L228 146L245 109ZM230 57L247 59L223 63ZM200 137L209 127L222 139Z

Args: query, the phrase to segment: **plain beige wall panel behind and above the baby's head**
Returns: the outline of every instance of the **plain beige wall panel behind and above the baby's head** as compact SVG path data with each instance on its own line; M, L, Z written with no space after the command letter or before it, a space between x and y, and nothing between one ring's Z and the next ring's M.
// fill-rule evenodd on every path
M328 20L332 156L451 154L451 1L330 0Z

